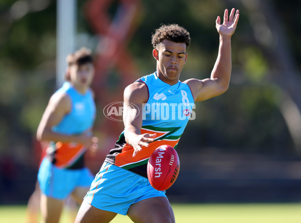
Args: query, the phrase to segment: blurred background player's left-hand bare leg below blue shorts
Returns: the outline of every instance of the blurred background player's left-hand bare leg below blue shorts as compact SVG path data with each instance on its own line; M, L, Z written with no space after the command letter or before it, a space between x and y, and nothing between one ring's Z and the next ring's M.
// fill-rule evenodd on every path
M63 200L47 197L41 194L41 222L45 223L58 223L62 209Z

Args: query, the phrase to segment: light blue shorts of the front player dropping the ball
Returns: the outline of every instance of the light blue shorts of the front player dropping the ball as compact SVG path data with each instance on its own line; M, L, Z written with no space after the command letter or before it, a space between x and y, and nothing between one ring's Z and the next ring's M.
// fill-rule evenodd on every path
M133 203L151 197L166 197L147 178L105 162L91 184L84 201L107 211L127 215Z

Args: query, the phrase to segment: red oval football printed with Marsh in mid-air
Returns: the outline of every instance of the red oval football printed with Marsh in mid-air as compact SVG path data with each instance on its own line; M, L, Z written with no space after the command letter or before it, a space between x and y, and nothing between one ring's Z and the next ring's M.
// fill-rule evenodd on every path
M168 189L176 180L179 170L178 154L169 145L159 146L147 163L147 177L156 190Z

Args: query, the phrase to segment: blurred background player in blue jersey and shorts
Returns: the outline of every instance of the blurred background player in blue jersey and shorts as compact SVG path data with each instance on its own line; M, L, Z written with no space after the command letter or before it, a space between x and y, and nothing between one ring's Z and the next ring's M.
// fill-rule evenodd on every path
M97 149L91 129L95 104L90 84L94 66L90 50L82 48L67 57L66 82L50 98L37 131L49 142L41 162L41 222L59 222L64 200L71 195L81 204L94 179L84 167L87 148Z

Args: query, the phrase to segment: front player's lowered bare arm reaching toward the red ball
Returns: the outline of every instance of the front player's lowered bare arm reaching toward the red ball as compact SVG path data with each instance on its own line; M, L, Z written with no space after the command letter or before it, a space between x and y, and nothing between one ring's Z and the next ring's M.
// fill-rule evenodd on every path
M153 137L156 136L156 134L141 134L142 108L143 103L146 103L147 99L147 86L143 83L135 82L130 84L124 91L124 135L126 142L134 148L133 157L142 150L142 147L148 147L147 142L153 142Z

